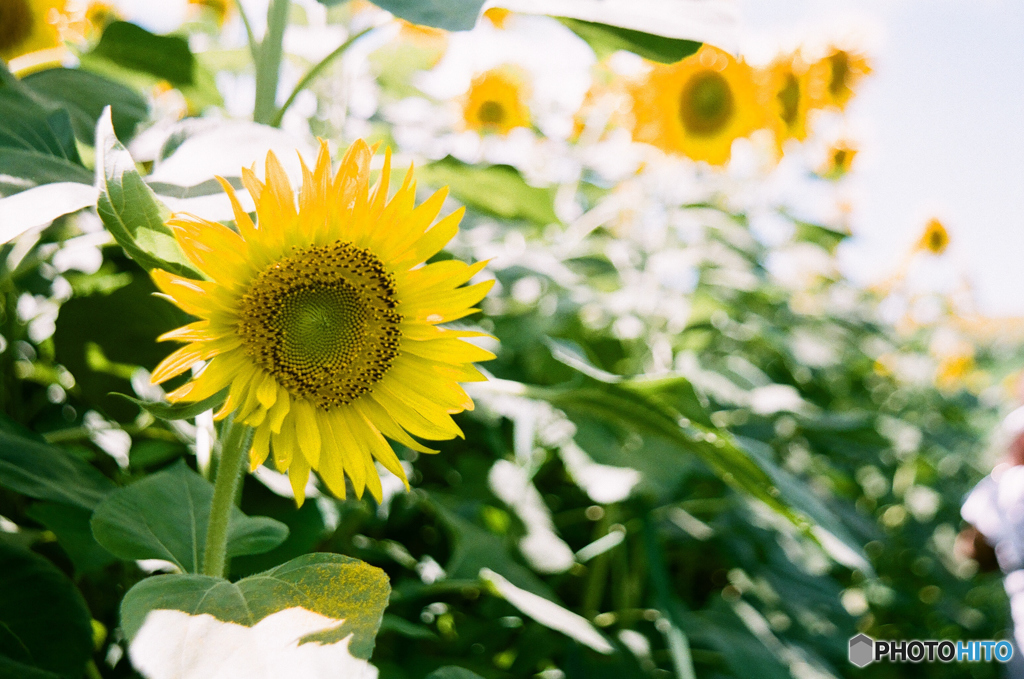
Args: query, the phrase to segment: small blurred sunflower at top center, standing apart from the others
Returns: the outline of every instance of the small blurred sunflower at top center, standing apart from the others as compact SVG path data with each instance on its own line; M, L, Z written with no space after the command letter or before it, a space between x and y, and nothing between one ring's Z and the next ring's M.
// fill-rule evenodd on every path
M463 101L466 127L480 132L508 134L529 125L526 85L512 67L485 71L473 78Z

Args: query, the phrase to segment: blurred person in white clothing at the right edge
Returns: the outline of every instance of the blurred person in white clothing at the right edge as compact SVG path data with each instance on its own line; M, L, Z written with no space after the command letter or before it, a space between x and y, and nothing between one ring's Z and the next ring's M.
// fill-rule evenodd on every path
M1006 456L964 502L961 516L970 525L957 536L956 551L977 561L980 570L1002 570L1014 628L1006 676L1024 679L1024 407L1006 417L995 442Z

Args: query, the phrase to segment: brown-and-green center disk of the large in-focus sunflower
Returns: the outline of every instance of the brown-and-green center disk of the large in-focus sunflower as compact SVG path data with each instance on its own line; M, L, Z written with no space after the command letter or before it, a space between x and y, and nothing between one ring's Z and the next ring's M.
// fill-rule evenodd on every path
M358 398L398 356L394 278L349 243L304 248L268 266L242 298L246 352L322 408Z

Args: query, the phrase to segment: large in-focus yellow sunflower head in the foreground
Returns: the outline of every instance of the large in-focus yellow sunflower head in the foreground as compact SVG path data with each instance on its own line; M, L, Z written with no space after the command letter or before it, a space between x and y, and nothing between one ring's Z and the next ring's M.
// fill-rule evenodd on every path
M209 280L153 272L172 302L199 317L161 336L187 344L157 367L154 383L206 362L168 398L196 401L227 389L216 417L233 413L255 428L251 469L272 453L299 504L310 470L339 498L347 475L356 496L368 487L380 500L374 460L408 487L384 436L421 453L435 451L411 434L461 436L452 415L473 401L459 382L483 380L472 364L494 357L462 341L482 333L439 326L477 310L493 282L463 284L485 262L421 265L456 235L463 210L431 227L446 189L415 207L410 169L388 201L390 153L374 188L372 154L356 141L332 176L322 142L314 169L303 165L298 209L268 154L265 183L252 170L242 174L255 222L220 179L238 232L187 214L167 222Z

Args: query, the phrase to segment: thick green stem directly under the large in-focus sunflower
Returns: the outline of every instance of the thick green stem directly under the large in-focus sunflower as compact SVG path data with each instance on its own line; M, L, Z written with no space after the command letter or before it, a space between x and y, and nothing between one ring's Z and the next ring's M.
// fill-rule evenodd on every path
M227 533L231 510L234 509L246 454L253 440L252 427L231 420L225 424L225 429L203 554L203 574L215 578L227 576Z

